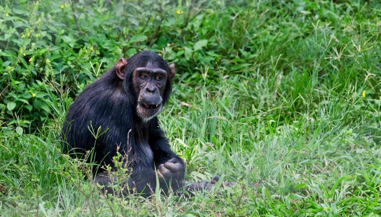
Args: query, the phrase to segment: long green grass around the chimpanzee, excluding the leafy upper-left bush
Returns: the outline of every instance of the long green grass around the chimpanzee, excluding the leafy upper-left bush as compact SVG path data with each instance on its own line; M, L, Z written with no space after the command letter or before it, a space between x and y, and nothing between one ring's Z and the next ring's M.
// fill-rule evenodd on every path
M5 106L0 113L0 215L381 215L379 8L376 1L226 3L208 5L189 23L194 30L178 25L169 34L173 20L164 21L161 34L173 45L151 48L178 70L160 125L186 161L187 180L218 174L238 182L189 200L104 198L85 178L86 165L62 155L56 139L83 84L68 83L65 92L66 85L43 80L51 112L29 125L32 133L24 124L32 123L29 116ZM200 51L181 53L208 37ZM149 43L135 48L151 49ZM93 58L108 58L105 71L117 55Z

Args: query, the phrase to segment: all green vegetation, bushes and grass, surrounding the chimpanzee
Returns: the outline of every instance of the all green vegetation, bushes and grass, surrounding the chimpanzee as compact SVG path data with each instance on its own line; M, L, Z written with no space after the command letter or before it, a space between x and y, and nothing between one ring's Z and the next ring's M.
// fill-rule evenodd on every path
M380 8L2 1L0 215L380 214ZM56 138L73 99L144 49L176 64L160 119L187 179L217 173L239 186L190 201L103 198L86 164L61 154Z

